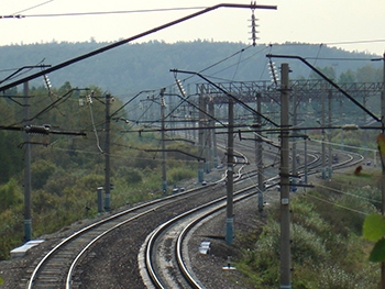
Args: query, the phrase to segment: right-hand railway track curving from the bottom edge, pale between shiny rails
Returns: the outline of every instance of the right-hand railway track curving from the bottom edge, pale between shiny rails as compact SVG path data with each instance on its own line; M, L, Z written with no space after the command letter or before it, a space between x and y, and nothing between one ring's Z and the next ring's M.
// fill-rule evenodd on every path
M255 194L249 187L237 192L234 203ZM147 288L204 288L189 268L184 256L186 234L199 221L224 209L226 197L195 208L158 226L143 244L140 259L142 277ZM142 256L141 256L142 255ZM145 260L145 262L144 262Z

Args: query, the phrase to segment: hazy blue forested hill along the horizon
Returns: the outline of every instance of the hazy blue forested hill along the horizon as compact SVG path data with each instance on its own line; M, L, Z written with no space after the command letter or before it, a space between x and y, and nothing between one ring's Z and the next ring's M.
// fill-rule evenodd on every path
M44 59L44 64L57 65L64 60L84 55L111 43L46 43L31 45L0 46L0 79L4 79L14 70L26 65L35 65ZM242 51L244 49L244 51ZM348 69L355 70L365 65L382 67L381 62L343 60L344 58L375 58L376 55L350 53L327 46L287 43L271 46L256 45L248 47L243 43L228 42L147 42L127 44L99 54L64 69L50 74L54 87L69 81L73 87L98 86L116 96L131 95L144 89L158 89L174 82L170 68L201 71L212 77L213 81L230 80L266 80L268 77L266 54L298 55L314 57L308 60L318 67L330 66L338 76ZM231 57L232 56L232 57ZM328 58L328 59L327 59ZM277 65L287 62L293 73L290 78L309 77L310 70L298 60L274 59ZM25 71L25 70L23 70ZM31 74L33 71L29 71ZM25 76L25 75L23 75ZM178 78L187 78L179 75ZM191 81L202 82L200 79ZM32 82L42 86L43 79Z

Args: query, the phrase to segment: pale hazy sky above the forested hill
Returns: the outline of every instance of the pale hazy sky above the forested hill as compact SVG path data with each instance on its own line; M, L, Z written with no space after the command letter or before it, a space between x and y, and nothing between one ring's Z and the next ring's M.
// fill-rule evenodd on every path
M0 19L0 46L53 41L116 42L219 3L250 4L251 1L1 0L0 15L25 18ZM385 52L384 0L263 0L257 4L277 7L277 10L254 11L258 24L257 44L322 44L381 56ZM177 10L162 11L165 9ZM127 13L63 15L123 11ZM136 42L205 40L252 44L251 16L250 9L220 8Z

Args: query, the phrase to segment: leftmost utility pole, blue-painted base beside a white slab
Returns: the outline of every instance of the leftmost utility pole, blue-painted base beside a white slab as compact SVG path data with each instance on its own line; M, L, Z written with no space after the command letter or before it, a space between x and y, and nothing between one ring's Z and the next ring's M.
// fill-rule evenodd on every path
M24 82L24 116L30 119L30 101L29 101L29 82ZM26 123L25 123L26 125ZM25 153L24 153L24 241L32 240L32 198L31 198L31 136L29 133L24 135Z

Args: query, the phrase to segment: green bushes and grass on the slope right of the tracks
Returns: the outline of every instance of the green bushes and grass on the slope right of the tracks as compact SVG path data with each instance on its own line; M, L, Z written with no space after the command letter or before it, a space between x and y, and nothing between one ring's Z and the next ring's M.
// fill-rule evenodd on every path
M362 237L362 225L367 214L380 210L380 176L336 174L293 196L293 288L377 288L380 265L369 262L373 243ZM266 215L261 234L242 236L245 246L237 268L255 288L268 289L279 282L278 204L266 208Z

